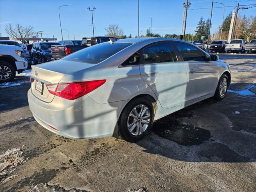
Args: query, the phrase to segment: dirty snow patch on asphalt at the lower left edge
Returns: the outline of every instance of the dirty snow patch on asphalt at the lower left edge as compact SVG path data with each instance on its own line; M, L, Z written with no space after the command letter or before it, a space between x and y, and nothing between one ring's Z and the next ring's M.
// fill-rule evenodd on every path
M0 155L0 181L6 182L17 175L12 175L17 166L24 162L22 151L18 148L7 150L4 154Z

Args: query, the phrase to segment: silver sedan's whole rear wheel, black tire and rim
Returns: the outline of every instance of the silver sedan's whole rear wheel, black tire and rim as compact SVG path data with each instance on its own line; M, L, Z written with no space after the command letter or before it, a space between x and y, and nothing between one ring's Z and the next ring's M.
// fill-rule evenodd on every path
M144 97L136 98L124 108L118 121L118 129L124 140L137 142L150 132L153 120L152 103Z

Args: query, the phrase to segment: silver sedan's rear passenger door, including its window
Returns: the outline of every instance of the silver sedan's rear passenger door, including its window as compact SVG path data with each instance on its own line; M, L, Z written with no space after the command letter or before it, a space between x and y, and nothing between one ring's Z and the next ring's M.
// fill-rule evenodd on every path
M162 108L183 105L187 88L187 71L170 41L150 44L142 49L140 73L158 98Z

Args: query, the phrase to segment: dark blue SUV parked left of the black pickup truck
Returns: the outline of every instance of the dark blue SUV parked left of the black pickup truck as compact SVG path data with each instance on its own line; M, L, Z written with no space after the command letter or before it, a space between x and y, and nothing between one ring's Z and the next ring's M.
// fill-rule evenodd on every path
M60 45L58 42L36 42L33 43L31 49L31 56L34 64L38 64L38 61L41 63L51 61L52 53L51 46Z

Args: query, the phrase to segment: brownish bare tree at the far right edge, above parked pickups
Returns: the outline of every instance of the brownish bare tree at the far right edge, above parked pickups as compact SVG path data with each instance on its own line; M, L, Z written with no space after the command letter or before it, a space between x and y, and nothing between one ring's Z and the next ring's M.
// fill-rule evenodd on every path
M256 36L256 16L243 16L238 24L238 33L246 36L249 41L252 36Z

